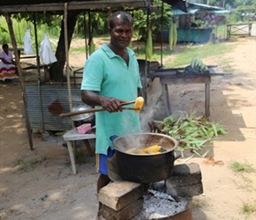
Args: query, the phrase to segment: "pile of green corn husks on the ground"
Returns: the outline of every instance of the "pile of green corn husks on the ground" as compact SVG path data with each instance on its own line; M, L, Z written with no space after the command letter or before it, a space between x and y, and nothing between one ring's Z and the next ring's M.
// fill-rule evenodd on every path
M163 121L157 122L162 133L178 141L177 150L183 155L184 150L191 150L199 156L200 150L212 138L226 134L227 131L220 123L210 122L203 116L196 116L196 112L188 115L184 112L171 114Z

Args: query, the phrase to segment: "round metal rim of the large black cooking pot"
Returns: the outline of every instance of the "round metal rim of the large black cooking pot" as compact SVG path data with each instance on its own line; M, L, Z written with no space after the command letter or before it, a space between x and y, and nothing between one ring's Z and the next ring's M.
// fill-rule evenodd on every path
M155 155L154 154L129 154L129 153L124 152L124 150L117 149L116 143L117 143L117 141L119 139L121 139L121 138L129 138L129 136L144 136L144 135L145 136L147 136L147 135L150 135L150 136L162 136L162 137L168 138L170 141L172 141L174 143L174 146L171 149L169 149L169 150L165 149L166 151L161 152L160 154L155 154ZM158 134L158 133L151 133L151 132L141 132L141 133L128 134L128 135L124 135L124 136L117 136L113 140L113 146L114 146L115 150L117 150L118 152L127 154L127 155L136 156L136 157L141 157L141 156L142 157L153 157L153 156L158 156L158 155L166 154L166 153L169 153L170 151L174 151L175 149L177 149L177 145L178 145L178 142L173 137L167 136L167 135L163 135L163 134ZM164 148L164 146L163 146L163 148Z

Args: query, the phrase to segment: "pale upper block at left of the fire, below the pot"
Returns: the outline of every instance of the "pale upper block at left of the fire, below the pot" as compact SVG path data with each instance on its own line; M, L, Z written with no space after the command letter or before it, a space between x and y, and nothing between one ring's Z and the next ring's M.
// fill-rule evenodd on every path
M138 200L142 195L143 187L141 184L117 181L101 188L99 202L117 211Z

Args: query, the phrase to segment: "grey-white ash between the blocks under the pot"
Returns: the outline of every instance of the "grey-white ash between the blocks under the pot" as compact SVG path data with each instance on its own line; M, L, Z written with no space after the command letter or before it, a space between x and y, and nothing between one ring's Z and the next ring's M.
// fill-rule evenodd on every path
M143 209L138 216L132 218L132 220L141 219L162 219L164 217L175 216L178 213L187 209L190 202L189 198L176 198L176 202L158 197L157 194L148 193L148 191L157 190L160 194L164 193L164 182L157 182L148 187L146 194L144 194Z

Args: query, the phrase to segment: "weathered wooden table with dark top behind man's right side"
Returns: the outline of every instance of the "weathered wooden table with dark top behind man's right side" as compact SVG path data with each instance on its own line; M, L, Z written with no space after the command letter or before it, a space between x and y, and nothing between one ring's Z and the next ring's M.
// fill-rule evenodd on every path
M210 116L210 84L211 75L209 71L206 74L178 74L178 70L182 68L155 70L149 74L150 77L159 77L162 85L163 102L165 106L165 114L171 114L169 99L169 84L205 84L205 116Z

